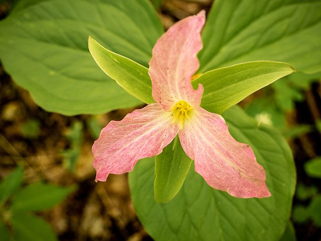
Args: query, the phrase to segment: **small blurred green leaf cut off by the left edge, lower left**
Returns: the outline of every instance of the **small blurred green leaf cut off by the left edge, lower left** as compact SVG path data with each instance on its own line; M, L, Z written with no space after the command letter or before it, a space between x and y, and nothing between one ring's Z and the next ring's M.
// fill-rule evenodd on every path
M14 193L24 180L24 168L19 165L4 180L0 182L0 204L3 204L8 197Z

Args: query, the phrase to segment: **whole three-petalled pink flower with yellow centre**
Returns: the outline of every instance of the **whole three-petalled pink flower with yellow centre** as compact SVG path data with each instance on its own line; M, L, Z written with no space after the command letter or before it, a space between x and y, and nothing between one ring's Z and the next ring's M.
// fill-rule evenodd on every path
M200 107L203 86L192 87L204 24L202 11L157 40L148 70L156 103L111 121L101 131L92 147L96 181L132 171L137 160L158 155L178 134L195 171L213 188L236 197L271 195L251 147L233 139L223 117Z

